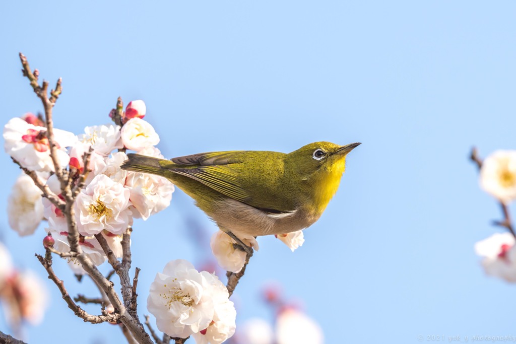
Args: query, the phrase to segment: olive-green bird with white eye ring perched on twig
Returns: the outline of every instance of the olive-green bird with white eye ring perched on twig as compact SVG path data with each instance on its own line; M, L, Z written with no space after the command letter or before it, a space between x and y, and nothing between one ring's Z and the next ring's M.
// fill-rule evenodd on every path
M337 191L347 154L360 144L320 141L291 153L225 151L170 160L130 153L121 168L167 178L245 246L240 237L286 234L316 222Z

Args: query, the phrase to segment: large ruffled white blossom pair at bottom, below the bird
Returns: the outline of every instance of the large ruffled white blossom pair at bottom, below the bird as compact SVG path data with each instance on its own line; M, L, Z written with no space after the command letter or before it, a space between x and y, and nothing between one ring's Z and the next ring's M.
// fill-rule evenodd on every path
M228 298L228 290L215 274L199 272L188 261L177 259L156 274L147 308L156 317L158 329L171 337L207 335L209 330L212 332L206 338L218 340L213 338L229 337L234 332L235 311ZM215 327L209 329L211 326Z

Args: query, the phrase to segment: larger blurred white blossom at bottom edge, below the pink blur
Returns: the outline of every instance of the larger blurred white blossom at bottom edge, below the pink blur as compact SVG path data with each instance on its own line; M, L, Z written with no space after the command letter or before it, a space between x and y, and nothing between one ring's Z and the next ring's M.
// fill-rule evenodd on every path
M322 344L324 336L317 322L295 308L283 308L276 319L277 344Z

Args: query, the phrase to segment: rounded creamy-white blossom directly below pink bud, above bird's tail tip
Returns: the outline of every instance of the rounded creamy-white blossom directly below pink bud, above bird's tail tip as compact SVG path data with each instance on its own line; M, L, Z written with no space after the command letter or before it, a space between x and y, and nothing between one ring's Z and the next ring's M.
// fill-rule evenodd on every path
M121 133L124 146L133 151L141 151L159 142L159 136L152 125L137 117L128 120Z

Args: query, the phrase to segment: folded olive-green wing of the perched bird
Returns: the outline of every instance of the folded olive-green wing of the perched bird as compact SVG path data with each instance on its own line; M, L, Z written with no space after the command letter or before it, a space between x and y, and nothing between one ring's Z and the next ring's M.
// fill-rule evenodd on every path
M275 196L278 186L270 183L270 179L278 178L282 168L263 161L254 151L200 153L171 161L169 167L164 166L169 171L195 179L235 200L270 212L292 210L282 210L285 204Z

